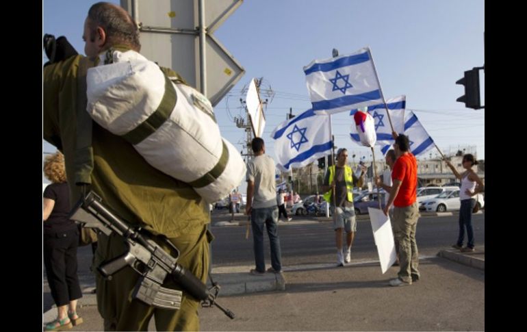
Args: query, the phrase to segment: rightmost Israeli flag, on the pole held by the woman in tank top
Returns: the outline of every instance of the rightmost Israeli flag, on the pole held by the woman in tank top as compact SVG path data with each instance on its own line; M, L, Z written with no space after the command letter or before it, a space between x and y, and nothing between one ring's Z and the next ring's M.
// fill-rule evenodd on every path
M404 112L404 135L407 135L410 140L410 151L417 156L434 147L434 140L428 135L423 125L413 114L411 110ZM391 149L391 144L386 144L381 148L383 154Z

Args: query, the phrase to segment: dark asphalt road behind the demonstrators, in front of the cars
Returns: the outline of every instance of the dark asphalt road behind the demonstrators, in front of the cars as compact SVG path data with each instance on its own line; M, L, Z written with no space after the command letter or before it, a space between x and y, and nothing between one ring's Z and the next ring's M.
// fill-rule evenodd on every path
M457 240L459 216L426 216L417 224L420 255L436 255ZM294 220L297 220L294 218ZM472 216L476 246L485 246L485 214ZM311 225L279 225L284 266L336 261L335 232L332 222ZM235 266L254 264L252 233L245 239L246 226L212 227L212 264ZM270 264L269 239L264 235L266 263ZM357 222L352 259L378 259L370 220Z

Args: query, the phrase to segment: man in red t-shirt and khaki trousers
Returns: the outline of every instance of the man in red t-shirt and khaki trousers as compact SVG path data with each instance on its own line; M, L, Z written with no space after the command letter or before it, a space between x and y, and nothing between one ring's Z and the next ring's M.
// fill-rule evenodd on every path
M417 207L417 160L410 152L408 136L394 133L396 141L394 150L397 160L391 170L391 180L394 183L389 192L389 200L384 208L384 214L388 215L391 204L394 204L394 235L399 244L400 270L396 279L391 279L389 285L404 286L411 285L419 280L420 274L417 270L419 265L419 253L417 242L415 242L415 229L419 218Z

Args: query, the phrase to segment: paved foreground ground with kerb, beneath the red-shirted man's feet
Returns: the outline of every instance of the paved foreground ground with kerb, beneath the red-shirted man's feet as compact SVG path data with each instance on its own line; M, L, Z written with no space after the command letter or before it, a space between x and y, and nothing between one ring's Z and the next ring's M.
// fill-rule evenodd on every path
M481 260L483 269L474 262ZM378 261L284 266L282 274L261 276L248 273L253 266L217 267L218 301L236 317L201 308L201 331L484 331L484 263L484 247L474 253L446 249L420 257L421 280L396 288L387 281L398 267L382 274ZM69 331L102 331L92 289L85 287L79 300L83 324ZM56 312L44 313L43 322ZM153 321L149 331L155 331Z

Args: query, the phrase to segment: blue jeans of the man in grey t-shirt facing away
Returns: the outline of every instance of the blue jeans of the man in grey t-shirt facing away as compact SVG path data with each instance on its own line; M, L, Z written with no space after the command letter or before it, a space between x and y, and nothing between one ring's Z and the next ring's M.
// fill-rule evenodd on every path
M264 225L267 226L269 242L271 247L271 266L275 271L282 269L282 254L280 251L280 238L277 229L278 207L262 207L250 212L250 225L253 227L253 242L255 249L256 269L266 272L266 261L264 259Z

